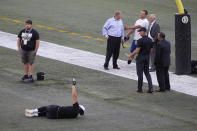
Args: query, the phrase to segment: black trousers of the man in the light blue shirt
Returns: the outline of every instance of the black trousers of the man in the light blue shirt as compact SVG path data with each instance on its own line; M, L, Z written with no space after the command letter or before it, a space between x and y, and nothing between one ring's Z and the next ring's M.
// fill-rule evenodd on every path
M121 37L109 36L107 39L107 49L104 67L109 66L109 61L113 55L113 67L117 67L117 60L120 53Z

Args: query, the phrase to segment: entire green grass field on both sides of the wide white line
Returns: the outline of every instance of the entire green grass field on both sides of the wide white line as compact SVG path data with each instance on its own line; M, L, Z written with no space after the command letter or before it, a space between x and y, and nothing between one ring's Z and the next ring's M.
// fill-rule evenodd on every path
M192 58L197 59L197 1L183 0L192 17ZM158 15L167 39L172 42L174 71L174 0L0 0L0 17L68 30L102 38L101 29L113 12L123 12L125 25L138 19L141 9ZM0 20L0 31L13 34L22 24ZM105 54L106 43L75 35L36 28L41 40L98 54ZM129 48L121 49L120 58ZM0 47L0 130L2 131L196 131L197 99L170 92L137 94L137 82L67 63L37 57L35 71L44 71L47 80L34 84L19 82L22 64L16 51ZM47 67L47 68L46 68ZM70 89L64 78L79 81L79 98L87 114L76 120L28 119L25 108L48 104L70 105ZM145 87L147 85L145 84ZM155 87L157 88L157 87Z

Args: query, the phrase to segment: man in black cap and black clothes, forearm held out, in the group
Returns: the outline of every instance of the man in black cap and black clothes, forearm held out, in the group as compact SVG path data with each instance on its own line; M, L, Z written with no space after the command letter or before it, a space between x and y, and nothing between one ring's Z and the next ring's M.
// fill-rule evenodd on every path
M152 79L149 73L149 58L150 51L152 48L152 40L147 36L146 28L142 27L138 31L142 36L141 39L137 41L137 48L129 55L129 60L133 60L134 56L138 54L136 58L136 69L138 75L138 93L142 93L143 86L143 72L148 81L149 90L147 93L153 92Z

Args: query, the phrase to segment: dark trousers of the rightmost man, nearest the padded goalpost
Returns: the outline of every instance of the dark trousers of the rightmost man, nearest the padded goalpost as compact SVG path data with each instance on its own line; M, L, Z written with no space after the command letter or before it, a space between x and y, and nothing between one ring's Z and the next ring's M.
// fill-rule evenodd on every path
M156 66L157 81L160 87L160 90L170 90L170 80L169 80L169 66L160 67Z

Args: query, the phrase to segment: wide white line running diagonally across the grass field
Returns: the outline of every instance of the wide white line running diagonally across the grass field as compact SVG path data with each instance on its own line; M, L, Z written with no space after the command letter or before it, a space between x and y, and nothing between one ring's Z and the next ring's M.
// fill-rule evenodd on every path
M0 46L16 50L16 39L16 35L0 31ZM53 60L121 76L124 78L137 80L136 67L134 63L127 65L126 61L119 60L118 64L121 70L110 69L109 71L105 71L103 69L105 56L88 51L82 51L50 42L41 41L38 55ZM153 84L158 85L154 72L151 73L151 76ZM144 82L147 82L146 78L144 78ZM170 72L170 82L172 90L197 96L197 78L187 75L178 76Z

